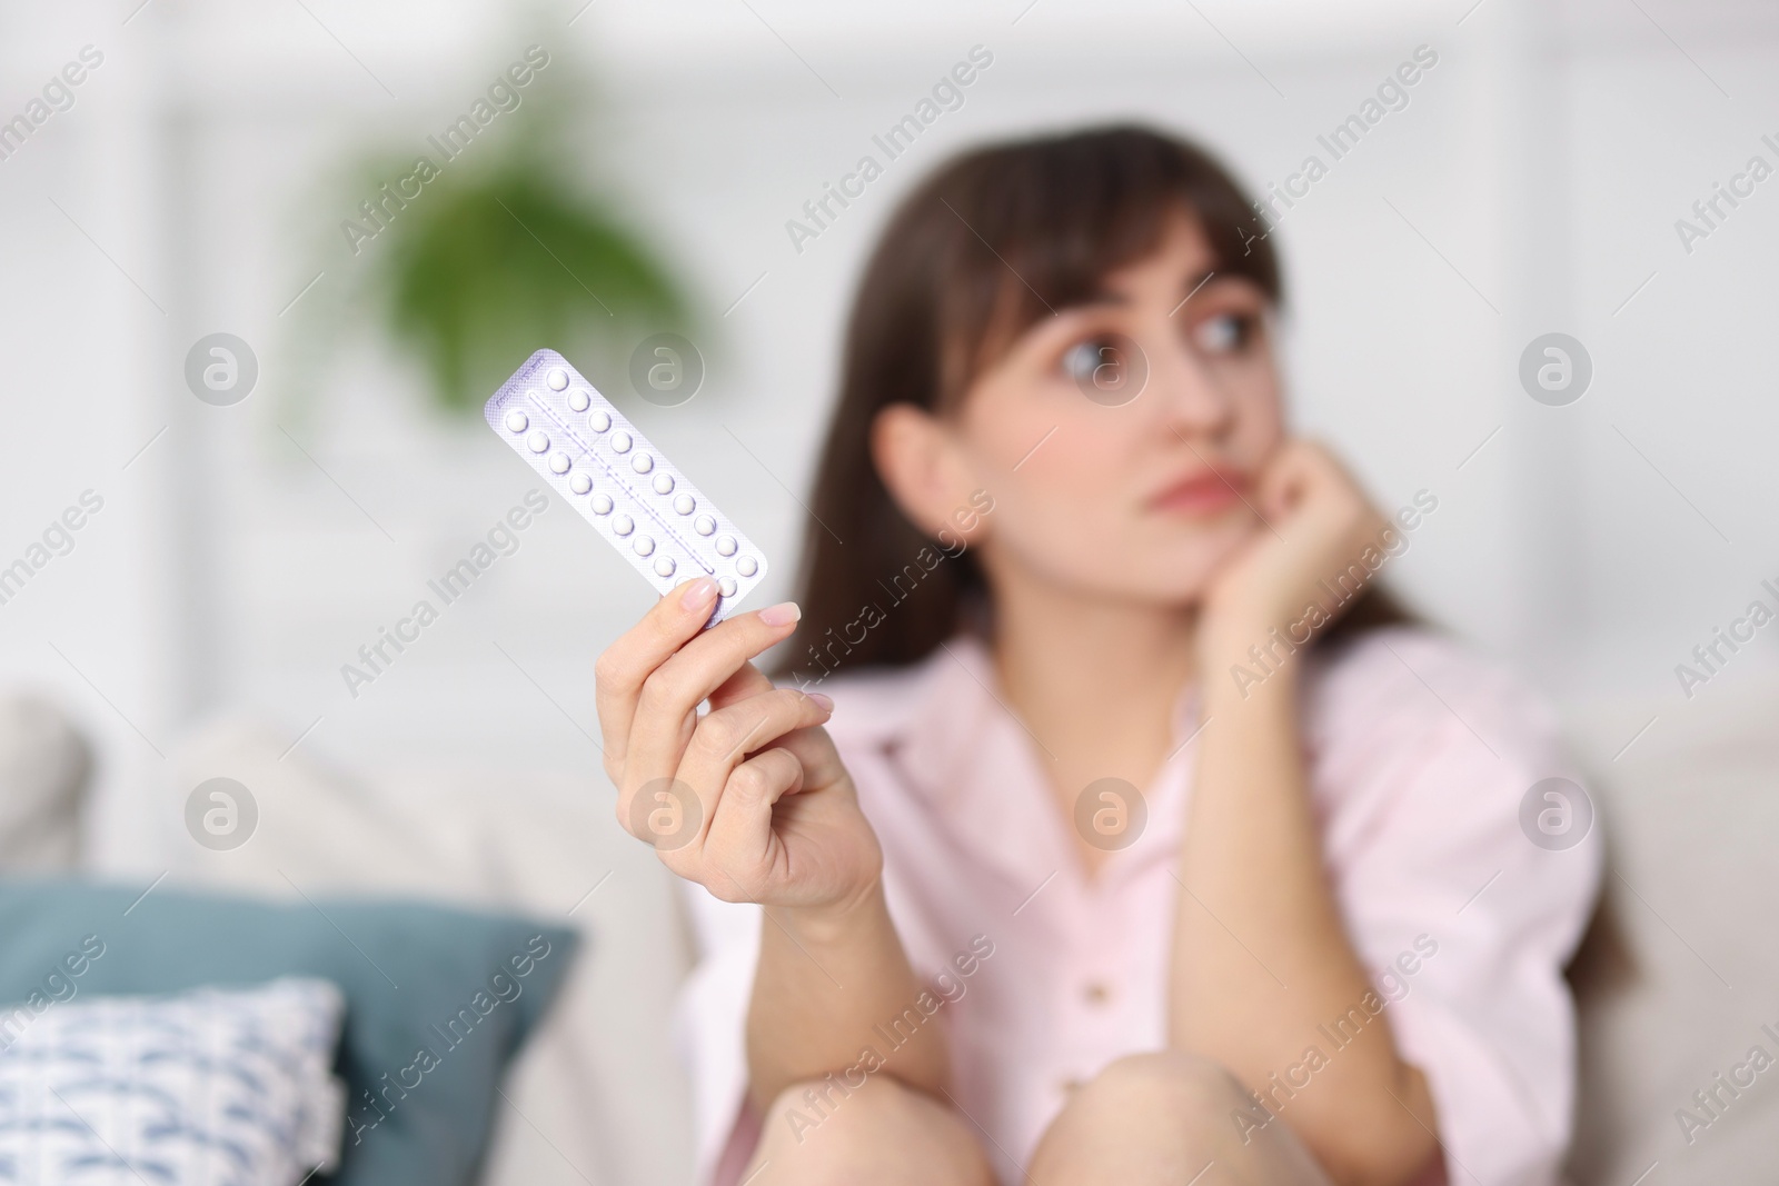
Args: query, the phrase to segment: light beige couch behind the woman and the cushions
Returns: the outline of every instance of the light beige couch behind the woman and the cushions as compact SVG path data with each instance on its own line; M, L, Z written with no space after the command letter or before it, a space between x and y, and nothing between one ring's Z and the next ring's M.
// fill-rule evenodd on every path
M1571 969L1578 1186L1767 1181L1779 1149L1779 1070L1736 1095L1719 1088L1715 1113L1694 1101L1751 1046L1779 1056L1761 1030L1779 1033L1779 676L1711 695L1566 706L1610 852ZM76 859L87 768L53 706L0 701L0 871ZM671 878L617 829L598 770L349 772L288 752L265 724L222 718L169 754L167 813L217 775L253 788L256 834L231 852L162 845L169 882L422 894L584 932L580 966L505 1086L489 1186L688 1182L690 1095L671 1035L688 932ZM1708 1124L1683 1129L1681 1108Z

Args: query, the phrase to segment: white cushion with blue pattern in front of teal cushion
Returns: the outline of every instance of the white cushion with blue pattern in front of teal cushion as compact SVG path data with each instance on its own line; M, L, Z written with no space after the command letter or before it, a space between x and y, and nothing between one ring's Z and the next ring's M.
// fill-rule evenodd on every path
M326 980L0 1006L0 1182L295 1186L340 1156Z

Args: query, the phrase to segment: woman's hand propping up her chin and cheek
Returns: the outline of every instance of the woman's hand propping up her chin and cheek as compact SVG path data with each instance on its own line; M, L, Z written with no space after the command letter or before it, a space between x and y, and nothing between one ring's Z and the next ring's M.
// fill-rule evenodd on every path
M1345 608L1332 605L1324 581L1336 596L1354 590L1386 555L1389 521L1315 441L1290 437L1279 445L1260 471L1252 501L1267 523L1211 580L1201 608L1201 647L1245 653L1251 644L1265 644L1276 626L1304 642L1309 626L1324 621L1309 612L1311 605L1322 606L1327 619Z

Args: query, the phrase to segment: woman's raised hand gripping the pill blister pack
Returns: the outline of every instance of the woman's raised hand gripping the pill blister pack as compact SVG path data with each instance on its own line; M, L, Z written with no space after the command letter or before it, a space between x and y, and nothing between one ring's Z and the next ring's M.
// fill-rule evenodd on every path
M833 701L774 688L749 661L795 631L797 606L703 629L715 594L710 578L680 585L594 667L617 821L724 902L861 902L882 848L822 729Z

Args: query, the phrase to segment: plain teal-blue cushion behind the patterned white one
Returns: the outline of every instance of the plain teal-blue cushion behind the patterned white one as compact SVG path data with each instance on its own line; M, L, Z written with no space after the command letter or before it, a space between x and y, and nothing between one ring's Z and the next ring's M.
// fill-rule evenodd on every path
M415 902L141 893L0 880L0 1003L28 1005L14 1024L87 994L331 980L347 999L347 1126L338 1174L311 1181L475 1182L495 1088L568 973L573 930Z

